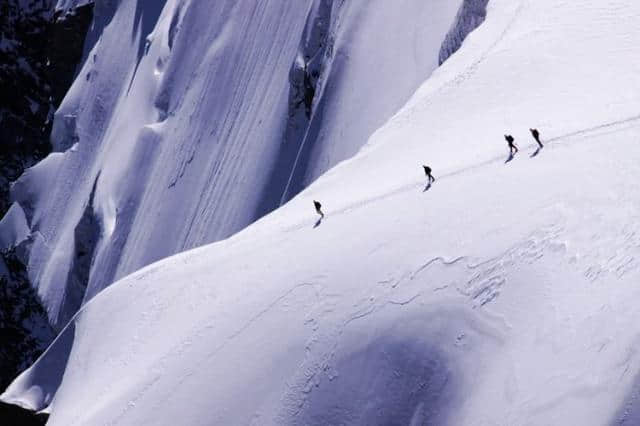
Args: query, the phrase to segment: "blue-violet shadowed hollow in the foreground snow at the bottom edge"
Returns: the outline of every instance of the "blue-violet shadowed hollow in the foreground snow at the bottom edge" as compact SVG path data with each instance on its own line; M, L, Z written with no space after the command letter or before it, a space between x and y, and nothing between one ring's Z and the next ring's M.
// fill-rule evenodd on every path
M383 336L339 360L294 424L445 424L457 393L450 362L420 336Z

